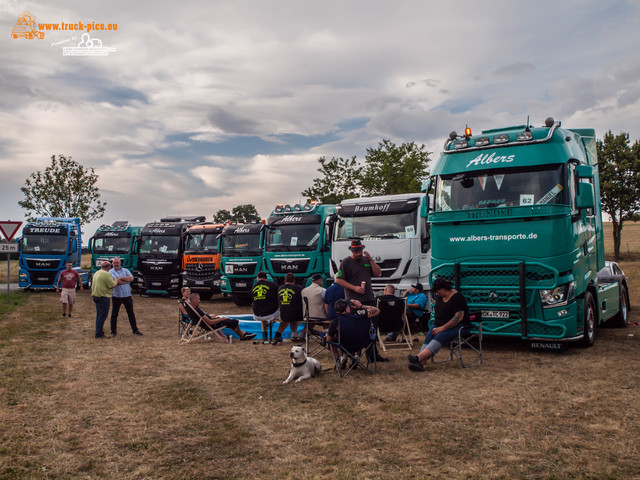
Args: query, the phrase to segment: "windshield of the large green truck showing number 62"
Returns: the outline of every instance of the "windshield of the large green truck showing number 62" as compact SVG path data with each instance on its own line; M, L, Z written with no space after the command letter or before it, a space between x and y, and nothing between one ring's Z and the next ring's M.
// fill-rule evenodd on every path
M566 198L563 184L563 165L442 176L436 187L436 211L561 204Z

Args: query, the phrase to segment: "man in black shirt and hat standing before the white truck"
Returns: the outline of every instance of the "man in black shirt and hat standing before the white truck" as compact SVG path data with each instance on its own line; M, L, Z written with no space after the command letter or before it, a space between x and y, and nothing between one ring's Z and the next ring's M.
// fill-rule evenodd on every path
M375 297L371 277L379 277L382 271L369 252L364 251L360 240L352 240L351 255L340 263L336 283L342 285L347 300L358 300L364 305L373 305Z

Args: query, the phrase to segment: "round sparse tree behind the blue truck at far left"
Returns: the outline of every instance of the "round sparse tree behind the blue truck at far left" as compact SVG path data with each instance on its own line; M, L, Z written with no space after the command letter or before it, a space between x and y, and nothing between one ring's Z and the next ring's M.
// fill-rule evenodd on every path
M18 202L27 210L28 219L43 217L78 217L84 224L101 218L106 203L100 200L96 184L98 175L71 157L51 156L44 172L32 173L20 190L25 199Z

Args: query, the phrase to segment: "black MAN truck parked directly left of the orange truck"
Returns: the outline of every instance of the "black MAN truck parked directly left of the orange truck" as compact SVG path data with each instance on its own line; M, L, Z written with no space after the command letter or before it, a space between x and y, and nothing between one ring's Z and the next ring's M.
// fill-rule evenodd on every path
M204 216L167 217L147 223L140 232L138 286L145 294L179 296L186 230Z

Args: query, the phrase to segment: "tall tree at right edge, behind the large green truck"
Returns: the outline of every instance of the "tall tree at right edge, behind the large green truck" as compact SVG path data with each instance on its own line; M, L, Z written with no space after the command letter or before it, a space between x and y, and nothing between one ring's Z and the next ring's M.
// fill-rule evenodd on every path
M596 142L602 210L613 225L613 255L620 260L622 227L640 210L640 144L629 146L629 134L609 130Z

